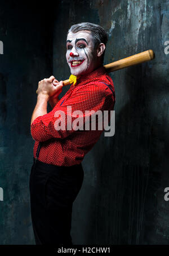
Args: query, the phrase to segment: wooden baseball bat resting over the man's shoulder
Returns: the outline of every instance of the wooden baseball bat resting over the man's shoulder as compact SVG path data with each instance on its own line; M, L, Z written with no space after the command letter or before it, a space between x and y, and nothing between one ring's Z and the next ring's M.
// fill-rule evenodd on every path
M143 63L145 61L153 60L155 58L155 54L153 50L143 51L139 54L135 54L132 56L129 56L127 58L114 61L112 63L104 65L106 72L113 72L115 70L131 67L136 64ZM63 81L64 86L70 85L70 80Z

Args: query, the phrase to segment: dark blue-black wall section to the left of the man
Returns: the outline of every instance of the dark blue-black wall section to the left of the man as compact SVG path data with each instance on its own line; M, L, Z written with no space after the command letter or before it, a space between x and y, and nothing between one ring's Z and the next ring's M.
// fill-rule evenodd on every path
M30 119L38 81L52 73L52 21L49 12L42 15L46 10L46 5L35 3L1 3L0 244L34 243L29 206L34 144Z

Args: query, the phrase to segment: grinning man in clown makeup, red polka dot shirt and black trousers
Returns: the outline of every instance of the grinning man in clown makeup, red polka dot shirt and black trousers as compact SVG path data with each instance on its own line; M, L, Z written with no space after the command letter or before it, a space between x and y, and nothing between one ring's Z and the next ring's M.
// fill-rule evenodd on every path
M29 180L36 244L72 245L72 206L84 176L81 162L104 129L73 129L70 124L78 116L74 113L80 113L84 123L86 112L91 118L91 113L114 109L113 81L103 67L107 41L99 25L73 25L66 39L66 60L74 83L61 99L63 81L51 76L38 84L30 127L35 144ZM66 129L56 129L58 120L66 122Z

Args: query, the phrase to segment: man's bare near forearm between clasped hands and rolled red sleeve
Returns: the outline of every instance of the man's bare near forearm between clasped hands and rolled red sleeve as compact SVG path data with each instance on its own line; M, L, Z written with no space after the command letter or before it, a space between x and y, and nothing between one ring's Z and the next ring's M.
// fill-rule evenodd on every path
M31 125L35 118L39 116L43 116L44 114L47 114L47 101L49 99L48 95L45 94L39 94L37 96L37 104L35 105L32 118L31 118Z

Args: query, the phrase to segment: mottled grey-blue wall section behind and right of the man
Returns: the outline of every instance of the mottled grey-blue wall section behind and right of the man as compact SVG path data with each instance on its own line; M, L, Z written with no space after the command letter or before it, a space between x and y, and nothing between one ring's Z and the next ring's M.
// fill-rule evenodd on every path
M73 208L76 244L168 244L169 1L62 1L54 29L54 74L69 77L65 37L90 21L109 34L105 64L153 49L155 60L111 74L115 135L101 136L83 160ZM60 36L58 36L60 35ZM65 89L66 90L66 89Z

